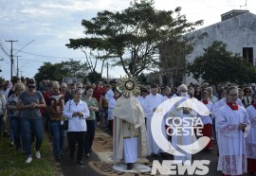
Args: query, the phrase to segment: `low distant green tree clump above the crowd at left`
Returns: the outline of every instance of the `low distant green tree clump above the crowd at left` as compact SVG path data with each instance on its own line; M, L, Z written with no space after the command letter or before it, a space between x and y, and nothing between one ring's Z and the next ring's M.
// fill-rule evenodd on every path
M64 77L76 77L83 79L86 77L87 64L81 61L70 60L68 62L50 63L44 62L35 75L37 81L51 79L62 81Z

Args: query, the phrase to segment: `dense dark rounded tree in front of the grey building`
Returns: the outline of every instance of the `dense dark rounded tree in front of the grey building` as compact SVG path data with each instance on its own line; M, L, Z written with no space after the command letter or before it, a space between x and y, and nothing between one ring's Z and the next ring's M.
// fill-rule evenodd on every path
M227 50L227 44L215 41L204 54L188 63L187 73L194 79L204 79L217 86L227 81L237 84L252 82L256 79L256 70L238 54Z

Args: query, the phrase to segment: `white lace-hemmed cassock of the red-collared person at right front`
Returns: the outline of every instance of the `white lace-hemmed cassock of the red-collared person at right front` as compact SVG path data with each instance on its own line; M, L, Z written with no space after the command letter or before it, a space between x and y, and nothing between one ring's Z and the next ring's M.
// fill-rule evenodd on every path
M238 129L240 123L246 123L245 132ZM247 110L242 106L238 110L231 110L225 104L219 109L216 118L216 132L218 132L219 160L218 170L225 175L242 175L247 172L246 136L249 132L250 121Z

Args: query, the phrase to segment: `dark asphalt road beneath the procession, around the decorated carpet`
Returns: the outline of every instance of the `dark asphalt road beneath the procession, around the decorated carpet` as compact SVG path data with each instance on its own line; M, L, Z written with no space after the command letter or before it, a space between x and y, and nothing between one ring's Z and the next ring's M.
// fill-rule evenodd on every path
M96 132L96 136L99 137L99 135L104 134L104 138L103 140L109 140L108 142L111 142L111 137L108 136L106 137L106 133L101 131L101 130L97 130ZM108 139L107 139L108 138ZM101 137L102 139L102 137ZM106 142L104 142L106 143ZM97 150L99 150L99 148L103 149L106 148L106 145L99 145L101 143L95 143L94 145L98 145L97 147L95 147L95 149L97 148ZM64 145L64 149L66 147L66 142ZM221 176L221 172L218 172L216 170L217 168L217 151L216 151L216 143L213 142L213 147L214 149L209 151L200 151L199 153L195 154L192 156L193 160L210 160L210 172L207 174L207 176ZM90 167L91 165L89 164L89 162L96 162L96 163L102 163L101 159L98 157L100 152L95 153L93 151L91 158L84 158L83 159L83 164L82 165L78 165L76 163L76 160L74 160L73 162L69 161L69 152L68 151L64 151L64 156L62 158L61 161L61 168L63 170L64 176L98 176L98 175L133 175L133 174L124 174L124 173L113 173L111 172L111 165L109 165L108 167L106 166L106 168L102 171L101 168L98 169L96 167ZM107 157L107 155L105 156ZM159 160L161 161L162 158L158 158L158 157L148 157L147 158L150 163L152 163L153 160ZM166 160L172 160L173 157L171 155L168 155L165 157ZM104 164L103 164L104 165ZM150 165L150 164L149 164ZM96 171L98 170L98 171ZM99 173L99 170L101 170L101 174ZM102 174L104 173L104 174ZM136 174L134 174L136 175ZM143 174L138 174L138 175L143 175ZM146 175L150 175L149 173ZM186 175L186 174L185 174ZM244 176L247 176L249 174L244 174Z

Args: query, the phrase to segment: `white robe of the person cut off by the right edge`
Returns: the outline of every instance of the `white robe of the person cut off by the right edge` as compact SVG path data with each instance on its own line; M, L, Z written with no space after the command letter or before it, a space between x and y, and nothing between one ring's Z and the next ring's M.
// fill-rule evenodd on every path
M247 158L256 159L256 109L254 106L248 106L247 113L251 122L250 132L247 135Z

